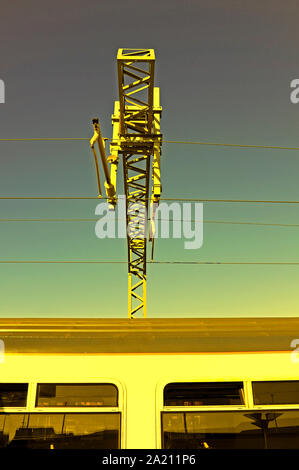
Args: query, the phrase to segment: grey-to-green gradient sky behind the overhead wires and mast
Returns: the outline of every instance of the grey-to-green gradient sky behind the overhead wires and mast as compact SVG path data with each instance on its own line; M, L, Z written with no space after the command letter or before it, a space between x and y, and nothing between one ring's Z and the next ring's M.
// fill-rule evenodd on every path
M0 138L112 135L119 47L154 48L166 140L299 146L299 4L1 2ZM299 200L299 152L163 145L163 197ZM0 142L0 196L96 196L88 142ZM119 194L123 194L120 166ZM5 217L92 218L96 201L0 201ZM210 220L299 223L298 205L204 204ZM299 261L298 227L204 225L156 260ZM123 259L93 222L0 222L1 260ZM148 267L149 317L296 316L299 266ZM126 265L0 265L2 317L127 316Z

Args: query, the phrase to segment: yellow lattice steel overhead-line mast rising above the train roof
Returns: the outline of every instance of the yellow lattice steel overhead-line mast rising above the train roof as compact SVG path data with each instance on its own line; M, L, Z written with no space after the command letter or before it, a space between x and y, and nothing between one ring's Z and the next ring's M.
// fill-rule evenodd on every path
M119 49L119 101L115 103L112 155L123 156L128 240L128 316L146 317L146 241L151 157L153 197L160 184L159 89L154 88L153 49ZM118 134L118 135L117 135Z

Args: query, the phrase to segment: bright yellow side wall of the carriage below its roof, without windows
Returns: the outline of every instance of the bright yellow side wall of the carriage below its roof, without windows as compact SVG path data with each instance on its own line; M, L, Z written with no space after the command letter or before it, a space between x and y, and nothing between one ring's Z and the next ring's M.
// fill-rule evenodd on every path
M118 341L119 334L116 333L115 338L115 341ZM66 340L68 343L70 341ZM166 351L167 347L168 344L165 343ZM121 446L129 449L154 449L162 447L161 412L180 410L178 407L164 407L164 387L168 383L298 380L298 364L292 363L290 354L290 351L104 355L19 352L5 355L5 362L1 364L1 382L29 383L29 398L25 411L47 412L51 415L57 413L57 408L43 408L42 411L36 408L36 383L115 383L119 390L117 409L86 407L82 410L77 407L64 408L64 412L120 411ZM246 389L249 390L249 387ZM267 409L265 406L253 406L253 400L250 398L249 395L248 410L257 412ZM298 409L298 405L268 407L271 410L282 408ZM182 407L181 410L191 411L188 407ZM232 406L218 406L217 410L229 412ZM20 407L2 408L1 411L24 413L24 409ZM193 406L192 411L208 413L215 411L215 407Z

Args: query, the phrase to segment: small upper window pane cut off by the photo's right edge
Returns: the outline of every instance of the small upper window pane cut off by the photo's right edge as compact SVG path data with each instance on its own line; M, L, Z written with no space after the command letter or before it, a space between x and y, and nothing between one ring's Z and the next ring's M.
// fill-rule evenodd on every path
M299 380L252 382L255 405L299 404Z

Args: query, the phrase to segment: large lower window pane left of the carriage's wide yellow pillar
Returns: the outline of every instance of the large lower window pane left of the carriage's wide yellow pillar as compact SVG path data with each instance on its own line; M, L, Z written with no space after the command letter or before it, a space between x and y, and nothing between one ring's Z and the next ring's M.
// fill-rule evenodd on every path
M0 429L0 447L120 448L120 413L0 414Z

